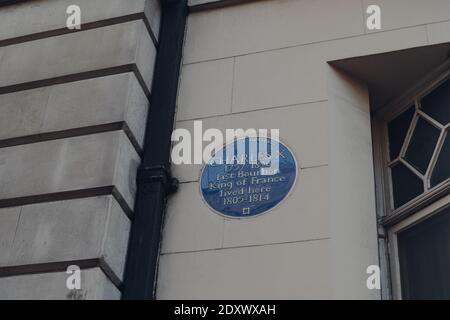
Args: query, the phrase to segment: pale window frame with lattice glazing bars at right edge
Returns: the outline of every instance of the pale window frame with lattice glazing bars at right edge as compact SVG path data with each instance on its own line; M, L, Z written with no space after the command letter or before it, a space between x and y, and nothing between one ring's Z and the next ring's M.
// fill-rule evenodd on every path
M443 199L450 201L450 180L446 180L433 188L424 188L423 194L399 208L394 208L389 167L392 161L390 161L389 155L387 125L389 121L406 111L409 107L414 105L415 108L418 108L420 105L417 102L420 102L421 98L433 91L440 83L448 78L450 78L450 57L442 65L424 76L420 82L407 90L403 95L372 114L376 207L380 239L380 262L383 274L382 283L384 283L382 290L383 299L401 299L397 234L444 209L446 203L443 202ZM427 121L436 125L434 119L430 119L427 115L425 117ZM418 117L415 114L412 122L417 123L417 119ZM407 140L409 142L411 139L414 127L415 124L409 128L405 141ZM438 148L434 151L430 166L426 172L426 176L429 176L429 178L426 178L428 185L430 184L429 180L431 178L429 171L436 165L439 151L445 141L445 134L443 132L450 134L450 124L444 127L446 127L446 130L443 130L439 136L437 142ZM407 145L408 143L404 143L399 157L406 152ZM408 164L409 167L411 165ZM414 170L417 171L416 169Z

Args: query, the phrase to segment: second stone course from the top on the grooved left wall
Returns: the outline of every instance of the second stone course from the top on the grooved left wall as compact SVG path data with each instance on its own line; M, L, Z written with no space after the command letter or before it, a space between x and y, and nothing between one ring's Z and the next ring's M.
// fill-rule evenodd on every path
M142 20L0 48L0 87L136 64L147 89L156 49Z

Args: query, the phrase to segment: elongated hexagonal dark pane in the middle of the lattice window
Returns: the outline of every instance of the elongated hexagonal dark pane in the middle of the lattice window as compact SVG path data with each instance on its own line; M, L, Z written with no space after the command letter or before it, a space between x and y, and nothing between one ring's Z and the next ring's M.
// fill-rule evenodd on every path
M425 173L433 156L440 131L428 121L419 118L406 151L405 159L421 173Z

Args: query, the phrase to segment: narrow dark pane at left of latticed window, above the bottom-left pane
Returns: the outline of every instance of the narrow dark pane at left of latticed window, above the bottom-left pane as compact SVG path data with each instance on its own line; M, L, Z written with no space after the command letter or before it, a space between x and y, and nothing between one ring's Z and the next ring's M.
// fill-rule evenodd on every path
M411 107L388 124L389 154L391 156L391 160L394 160L400 154L400 150L403 146L403 142L405 141L409 126L411 125L414 112L414 107Z

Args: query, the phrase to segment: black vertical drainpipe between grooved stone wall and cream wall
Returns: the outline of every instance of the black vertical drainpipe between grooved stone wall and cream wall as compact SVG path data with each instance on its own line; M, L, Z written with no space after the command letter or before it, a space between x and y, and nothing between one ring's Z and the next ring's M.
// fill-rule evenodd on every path
M170 173L171 135L184 40L187 0L162 0L159 49L153 75L144 153L125 267L122 299L155 299L166 200L177 189Z

